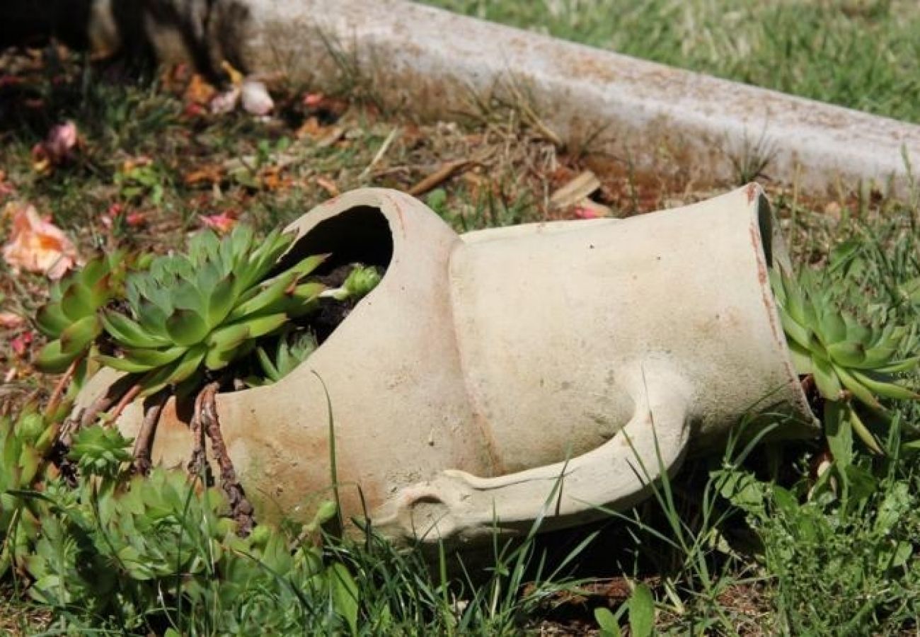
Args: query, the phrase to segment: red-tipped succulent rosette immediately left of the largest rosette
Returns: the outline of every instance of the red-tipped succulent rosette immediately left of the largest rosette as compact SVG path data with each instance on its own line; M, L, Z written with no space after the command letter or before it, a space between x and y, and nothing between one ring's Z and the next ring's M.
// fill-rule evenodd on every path
M50 339L35 364L43 372L63 372L86 355L102 331L99 312L121 293L126 268L122 250L101 254L52 284L51 298L35 321Z

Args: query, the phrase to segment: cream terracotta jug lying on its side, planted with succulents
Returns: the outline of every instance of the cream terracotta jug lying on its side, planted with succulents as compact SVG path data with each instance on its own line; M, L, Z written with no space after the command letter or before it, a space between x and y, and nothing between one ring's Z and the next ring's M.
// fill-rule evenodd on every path
M626 507L746 414L784 414L778 437L815 434L767 281L786 259L771 219L754 185L622 221L462 237L396 191L318 206L291 226L285 259L387 269L290 376L218 396L259 519L306 517L329 497L330 418L344 513L396 540ZM155 461L187 461L189 411L167 404ZM141 418L134 404L119 426L136 434Z

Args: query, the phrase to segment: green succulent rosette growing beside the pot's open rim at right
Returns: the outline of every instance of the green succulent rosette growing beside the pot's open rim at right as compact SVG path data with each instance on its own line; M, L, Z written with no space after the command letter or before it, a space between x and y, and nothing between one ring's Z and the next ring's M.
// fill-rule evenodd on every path
M811 375L825 400L852 404L851 399L880 416L888 411L879 398L918 400L897 374L914 370L920 356L899 357L914 350L916 336L904 326L869 327L840 311L829 294L815 291L811 279L801 283L771 272L779 318L792 361L801 375ZM880 446L857 411L846 413L853 431L876 452Z

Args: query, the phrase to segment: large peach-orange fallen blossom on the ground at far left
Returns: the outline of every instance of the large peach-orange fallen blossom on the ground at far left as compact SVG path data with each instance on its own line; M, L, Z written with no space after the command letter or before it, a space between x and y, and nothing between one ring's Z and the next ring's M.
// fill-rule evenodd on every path
M3 258L14 271L43 272L50 279L60 279L74 267L77 259L74 243L61 228L43 220L28 203L7 203L4 214L13 220Z

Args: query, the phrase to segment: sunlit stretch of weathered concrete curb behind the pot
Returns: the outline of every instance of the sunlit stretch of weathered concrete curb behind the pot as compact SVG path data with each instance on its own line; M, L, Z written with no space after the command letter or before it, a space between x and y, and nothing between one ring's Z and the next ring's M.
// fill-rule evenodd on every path
M391 108L456 116L526 101L569 145L651 167L661 153L732 179L769 155L774 180L822 194L860 180L907 190L920 126L558 41L402 0L251 0L254 66L317 89L364 82ZM318 29L318 32L317 32ZM598 134L600 132L600 134Z

